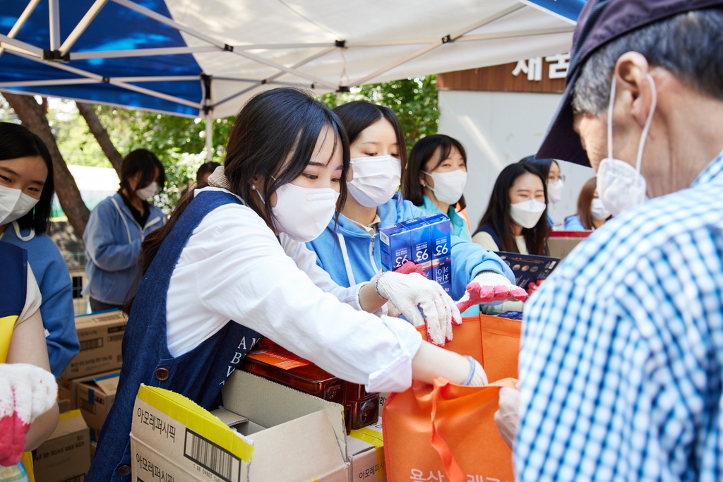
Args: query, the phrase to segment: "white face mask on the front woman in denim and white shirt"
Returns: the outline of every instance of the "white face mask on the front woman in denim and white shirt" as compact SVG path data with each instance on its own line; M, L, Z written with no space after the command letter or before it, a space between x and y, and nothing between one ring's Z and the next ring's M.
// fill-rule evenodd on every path
M276 227L295 241L313 241L334 217L338 197L339 193L330 187L309 188L286 183L276 189L276 205L271 208Z

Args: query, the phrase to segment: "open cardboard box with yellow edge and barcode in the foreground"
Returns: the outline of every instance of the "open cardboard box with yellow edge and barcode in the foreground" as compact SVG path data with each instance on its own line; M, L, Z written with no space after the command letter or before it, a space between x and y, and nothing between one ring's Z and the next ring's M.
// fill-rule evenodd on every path
M181 395L142 385L133 480L348 482L341 405L240 370L223 400L214 412L221 421Z

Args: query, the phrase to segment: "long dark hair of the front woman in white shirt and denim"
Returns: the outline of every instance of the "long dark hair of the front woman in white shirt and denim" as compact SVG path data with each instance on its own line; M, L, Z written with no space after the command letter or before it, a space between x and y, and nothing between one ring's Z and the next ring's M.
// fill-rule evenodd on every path
M291 87L254 95L236 116L223 165L231 184L230 191L245 199L247 206L260 215L269 228L274 228L275 218L270 202L272 194L304 172L314 155L319 135L327 128L328 136L333 137L334 141L332 155L338 149L341 149L343 155L338 206L343 205L349 169L346 132L341 121L327 106L315 100L311 93ZM260 178L264 179L263 189L255 191L252 184ZM153 262L163 239L194 199L195 190L189 189L168 223L150 233L143 241L138 259L139 280ZM262 205L252 202L260 191L264 193ZM129 312L132 303L130 300L124 310Z

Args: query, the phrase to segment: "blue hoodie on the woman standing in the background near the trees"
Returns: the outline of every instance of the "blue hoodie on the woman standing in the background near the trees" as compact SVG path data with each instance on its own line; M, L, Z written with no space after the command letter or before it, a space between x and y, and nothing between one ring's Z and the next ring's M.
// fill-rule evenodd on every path
M140 244L148 233L166 224L166 215L158 207L149 206L150 214L142 228L117 192L90 213L83 233L88 278L84 295L107 304L126 302L138 274Z

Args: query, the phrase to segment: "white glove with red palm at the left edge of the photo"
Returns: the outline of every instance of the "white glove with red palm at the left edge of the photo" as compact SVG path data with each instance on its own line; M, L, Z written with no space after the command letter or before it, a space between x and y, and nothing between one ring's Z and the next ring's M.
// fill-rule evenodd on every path
M35 418L56 403L53 374L27 363L0 363L0 465L17 465Z

